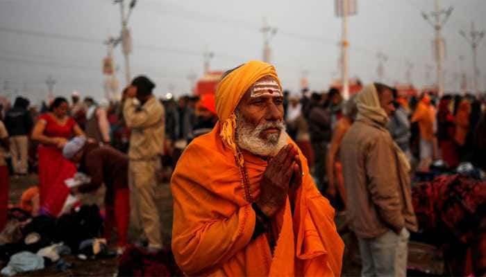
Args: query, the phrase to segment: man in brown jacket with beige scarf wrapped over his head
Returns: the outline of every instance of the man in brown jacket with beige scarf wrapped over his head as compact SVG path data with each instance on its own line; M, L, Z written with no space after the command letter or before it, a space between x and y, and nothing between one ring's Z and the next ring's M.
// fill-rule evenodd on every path
M393 102L390 87L364 87L356 96L358 118L340 149L348 220L358 236L362 276L405 276L408 230L417 231L410 166L385 127Z

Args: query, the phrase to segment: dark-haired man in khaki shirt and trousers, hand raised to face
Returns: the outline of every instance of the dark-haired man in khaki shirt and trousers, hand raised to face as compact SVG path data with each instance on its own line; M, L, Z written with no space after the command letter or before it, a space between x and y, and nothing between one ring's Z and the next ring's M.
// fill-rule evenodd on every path
M131 129L128 184L133 222L136 228L143 229L149 250L158 251L162 249L162 238L155 188L165 126L164 107L153 96L154 87L155 84L145 76L133 79L126 93L124 118Z

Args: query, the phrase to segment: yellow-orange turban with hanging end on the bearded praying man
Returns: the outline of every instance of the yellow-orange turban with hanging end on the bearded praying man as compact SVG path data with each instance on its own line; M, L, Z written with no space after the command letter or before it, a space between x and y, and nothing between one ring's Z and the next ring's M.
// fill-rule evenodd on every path
M256 60L233 69L219 81L216 89L216 112L221 125L219 135L224 144L233 151L240 166L243 166L244 160L235 143L235 109L251 85L265 76L271 76L277 80L281 89L282 85L275 67Z

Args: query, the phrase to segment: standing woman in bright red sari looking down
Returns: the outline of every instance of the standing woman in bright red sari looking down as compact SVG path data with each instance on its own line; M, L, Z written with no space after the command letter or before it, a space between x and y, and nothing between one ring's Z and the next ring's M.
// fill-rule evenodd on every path
M32 139L39 141L40 212L58 216L69 195L65 179L76 173L76 166L62 156L62 148L72 136L84 135L73 118L67 116L67 100L54 99L49 112L39 116Z

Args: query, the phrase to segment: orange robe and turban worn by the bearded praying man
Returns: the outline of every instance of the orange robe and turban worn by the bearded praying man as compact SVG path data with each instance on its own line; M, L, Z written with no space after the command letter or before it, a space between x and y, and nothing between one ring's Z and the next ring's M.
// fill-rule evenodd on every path
M273 66L253 61L221 80L216 95L219 122L187 146L172 175L172 251L187 275L340 275L344 244L334 209L317 190L300 150L302 185L294 213L287 198L272 217L273 253L266 233L252 240L256 219L251 202L260 194L267 161L237 150L234 109L251 84L265 75L278 78Z

